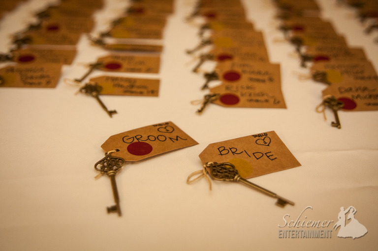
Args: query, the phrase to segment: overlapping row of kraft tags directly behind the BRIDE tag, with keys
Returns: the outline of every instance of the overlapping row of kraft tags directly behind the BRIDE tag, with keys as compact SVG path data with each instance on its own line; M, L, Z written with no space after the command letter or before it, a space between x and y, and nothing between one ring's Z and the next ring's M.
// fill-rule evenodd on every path
M201 72L200 67L208 61L216 62L213 71L204 73L201 89L209 88L211 81L218 84L212 84L197 112L209 103L223 107L286 108L280 65L269 62L263 34L246 20L240 1L198 0L188 22L200 22L201 42L187 50L190 55L200 52L193 72Z

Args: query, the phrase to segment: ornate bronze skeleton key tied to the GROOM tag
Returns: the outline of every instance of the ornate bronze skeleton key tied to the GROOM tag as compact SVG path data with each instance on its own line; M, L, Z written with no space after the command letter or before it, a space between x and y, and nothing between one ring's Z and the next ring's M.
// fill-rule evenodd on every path
M106 174L110 178L114 202L116 204L108 207L107 211L108 213L117 212L118 216L121 216L121 208L116 184L116 174L124 164L125 160L123 158L111 156L109 152L105 153L105 157L95 164L96 171L99 171L101 174Z

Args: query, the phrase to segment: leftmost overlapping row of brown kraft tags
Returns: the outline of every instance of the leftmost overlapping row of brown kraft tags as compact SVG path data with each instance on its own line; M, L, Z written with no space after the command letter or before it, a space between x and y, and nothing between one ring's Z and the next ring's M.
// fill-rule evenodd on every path
M54 88L64 64L76 56L76 44L94 27L93 13L102 0L66 0L35 13L36 21L13 34L7 53L1 54L0 87Z

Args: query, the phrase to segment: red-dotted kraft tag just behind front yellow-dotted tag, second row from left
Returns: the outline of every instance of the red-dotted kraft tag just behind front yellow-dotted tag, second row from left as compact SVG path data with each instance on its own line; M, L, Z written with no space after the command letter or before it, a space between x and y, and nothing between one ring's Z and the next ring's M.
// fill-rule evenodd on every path
M102 71L159 73L160 55L109 55L97 59Z

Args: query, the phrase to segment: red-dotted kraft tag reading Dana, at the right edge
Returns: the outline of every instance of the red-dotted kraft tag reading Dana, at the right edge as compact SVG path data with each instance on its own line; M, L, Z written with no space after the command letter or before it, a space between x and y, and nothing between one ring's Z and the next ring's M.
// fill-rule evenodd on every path
M334 96L344 103L343 111L377 111L378 82L343 79L333 83L322 91L323 97Z

